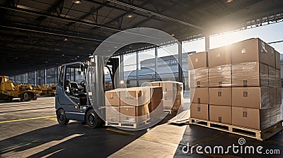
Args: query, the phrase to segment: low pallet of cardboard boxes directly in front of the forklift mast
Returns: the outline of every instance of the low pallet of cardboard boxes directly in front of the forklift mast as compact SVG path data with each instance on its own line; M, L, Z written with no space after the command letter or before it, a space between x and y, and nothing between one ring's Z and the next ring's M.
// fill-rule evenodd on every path
M105 92L105 124L139 128L159 119L162 87L127 87ZM160 110L161 109L161 110Z

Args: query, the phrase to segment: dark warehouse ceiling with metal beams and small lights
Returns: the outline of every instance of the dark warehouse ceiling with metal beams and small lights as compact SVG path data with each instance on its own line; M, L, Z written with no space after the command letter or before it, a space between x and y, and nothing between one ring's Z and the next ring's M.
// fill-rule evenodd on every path
M180 41L282 20L282 0L1 0L0 74L83 61L110 35L163 30ZM143 44L144 45L144 44ZM121 52L141 47L125 47Z

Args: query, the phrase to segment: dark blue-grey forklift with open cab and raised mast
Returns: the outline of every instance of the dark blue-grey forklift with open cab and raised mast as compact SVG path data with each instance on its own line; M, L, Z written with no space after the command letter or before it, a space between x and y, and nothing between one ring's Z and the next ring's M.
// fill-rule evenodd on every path
M105 120L104 68L111 70L112 88L119 82L119 59L90 56L88 63L73 62L60 66L55 94L57 121L66 125L69 120L81 121L90 128L103 126ZM115 74L115 75L114 75Z

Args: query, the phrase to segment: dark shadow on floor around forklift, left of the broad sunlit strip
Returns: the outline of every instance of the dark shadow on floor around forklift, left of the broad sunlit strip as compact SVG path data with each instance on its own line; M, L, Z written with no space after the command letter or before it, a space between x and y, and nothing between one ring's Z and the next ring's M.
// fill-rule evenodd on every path
M166 116L158 125L173 116ZM117 128L91 129L78 121L72 121L67 126L48 126L1 140L0 155L33 151L30 157L108 157L146 133L146 130L127 131L131 134L113 130Z

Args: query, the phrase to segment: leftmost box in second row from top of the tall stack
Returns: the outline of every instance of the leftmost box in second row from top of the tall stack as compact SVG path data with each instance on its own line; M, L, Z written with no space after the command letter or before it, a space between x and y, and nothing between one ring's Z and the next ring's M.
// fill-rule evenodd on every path
M189 85L192 87L208 87L208 68L197 68L189 71Z

